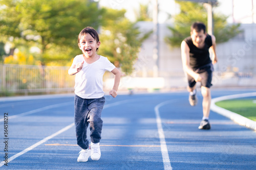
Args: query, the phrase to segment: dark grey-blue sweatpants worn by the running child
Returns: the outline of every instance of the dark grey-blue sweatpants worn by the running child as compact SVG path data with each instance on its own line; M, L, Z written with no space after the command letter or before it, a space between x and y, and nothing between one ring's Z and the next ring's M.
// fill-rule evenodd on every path
M102 119L101 111L105 103L105 98L82 99L75 95L75 128L77 144L82 149L89 148L87 139L87 128L90 124L91 141L98 143L101 139Z

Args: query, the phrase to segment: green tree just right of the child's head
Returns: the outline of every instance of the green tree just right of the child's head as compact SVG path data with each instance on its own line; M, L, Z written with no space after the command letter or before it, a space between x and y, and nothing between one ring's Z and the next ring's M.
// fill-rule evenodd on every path
M124 17L125 10L106 9L101 27L99 54L108 57L125 74L133 72L142 42L152 32L141 33L136 23Z

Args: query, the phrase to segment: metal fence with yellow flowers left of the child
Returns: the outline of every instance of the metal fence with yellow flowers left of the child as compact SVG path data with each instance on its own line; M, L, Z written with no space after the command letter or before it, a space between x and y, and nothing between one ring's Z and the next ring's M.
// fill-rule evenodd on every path
M13 93L74 91L66 66L0 64L0 91Z

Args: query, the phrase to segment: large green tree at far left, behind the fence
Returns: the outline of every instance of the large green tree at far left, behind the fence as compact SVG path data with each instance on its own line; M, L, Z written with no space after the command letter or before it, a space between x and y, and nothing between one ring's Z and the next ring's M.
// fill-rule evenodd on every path
M79 32L86 26L97 29L103 13L87 0L4 0L1 5L1 34L39 47L42 65L69 60L77 52Z

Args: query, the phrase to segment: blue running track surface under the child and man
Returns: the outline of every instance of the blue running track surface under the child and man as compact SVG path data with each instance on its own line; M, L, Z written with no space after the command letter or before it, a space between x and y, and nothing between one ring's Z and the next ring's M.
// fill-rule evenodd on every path
M211 93L216 98L254 91ZM73 94L0 98L0 168L256 169L255 131L212 111L211 129L199 130L197 95L195 107L185 91L105 96L101 158L88 162L77 162Z

